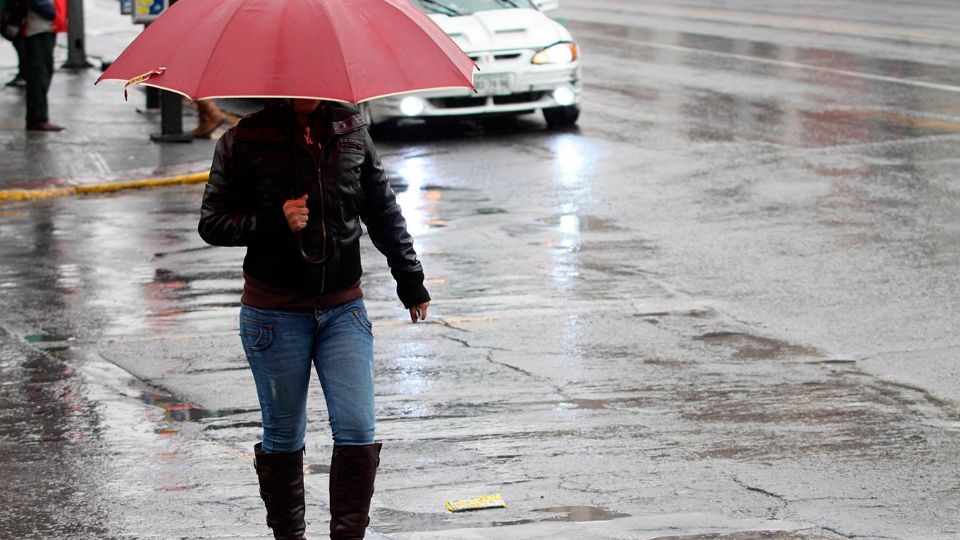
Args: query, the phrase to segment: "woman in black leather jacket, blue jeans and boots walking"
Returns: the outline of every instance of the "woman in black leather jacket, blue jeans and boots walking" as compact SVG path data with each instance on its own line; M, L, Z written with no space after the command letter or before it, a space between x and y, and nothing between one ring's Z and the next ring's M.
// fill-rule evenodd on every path
M333 434L330 537L363 538L381 445L374 441L373 334L360 289L360 221L387 258L410 320L430 296L406 222L354 107L269 100L219 140L200 236L245 246L240 337L263 418L254 447L267 525L302 539L311 366Z

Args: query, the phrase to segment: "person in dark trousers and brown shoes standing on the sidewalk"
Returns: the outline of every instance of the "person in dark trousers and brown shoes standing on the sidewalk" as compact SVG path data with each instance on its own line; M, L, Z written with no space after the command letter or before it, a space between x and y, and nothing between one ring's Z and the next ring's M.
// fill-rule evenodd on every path
M50 123L47 91L53 79L53 48L57 32L67 30L67 0L27 0L23 40L27 80L27 131L61 131Z

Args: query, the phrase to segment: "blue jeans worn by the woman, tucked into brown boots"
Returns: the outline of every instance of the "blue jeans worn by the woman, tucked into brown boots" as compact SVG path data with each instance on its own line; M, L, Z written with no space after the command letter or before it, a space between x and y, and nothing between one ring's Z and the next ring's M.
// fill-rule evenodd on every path
M334 444L373 444L373 326L363 299L325 310L240 308L240 340L263 417L263 450L304 445L315 366Z

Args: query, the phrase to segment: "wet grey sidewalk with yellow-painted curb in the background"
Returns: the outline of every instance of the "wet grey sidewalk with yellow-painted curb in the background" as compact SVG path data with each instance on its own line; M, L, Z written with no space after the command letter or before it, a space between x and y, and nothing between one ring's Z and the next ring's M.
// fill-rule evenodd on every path
M150 134L160 132L160 114L141 112L146 104L142 88L131 89L125 102L122 84L110 81L94 86L101 63L119 55L141 26L120 15L112 0L87 1L84 9L87 55L94 67L57 69L48 94L50 119L66 127L65 131L27 132L25 90L0 87L0 144L4 148L0 200L70 194L77 188L83 192L204 181L215 139L224 127L211 140L150 141ZM61 34L55 65L62 65L66 55L66 35ZM16 53L5 41L0 45L0 81L12 79L16 69ZM184 106L184 130L195 125L196 112Z

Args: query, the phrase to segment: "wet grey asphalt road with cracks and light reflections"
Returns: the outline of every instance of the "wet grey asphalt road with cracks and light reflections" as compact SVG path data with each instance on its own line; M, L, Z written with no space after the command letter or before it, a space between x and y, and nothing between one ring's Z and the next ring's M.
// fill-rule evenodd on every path
M579 129L379 137L435 303L404 324L364 245L377 533L960 536L960 13L559 15L584 51ZM242 252L196 236L200 193L0 207L4 536L266 532ZM507 509L443 509L493 492Z

